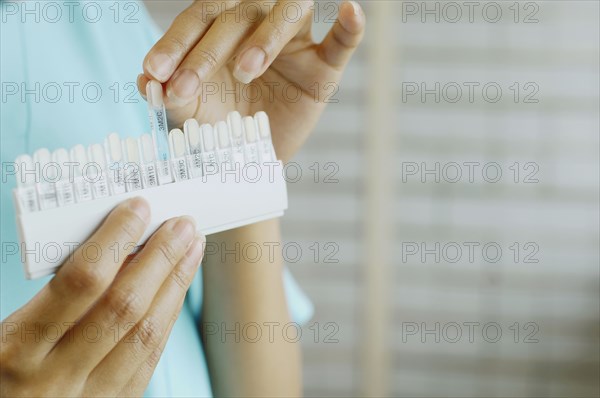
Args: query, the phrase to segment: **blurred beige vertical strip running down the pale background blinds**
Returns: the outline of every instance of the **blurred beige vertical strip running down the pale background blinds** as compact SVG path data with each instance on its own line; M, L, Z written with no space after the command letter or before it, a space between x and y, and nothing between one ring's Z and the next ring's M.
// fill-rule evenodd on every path
M362 393L365 396L388 395L391 358L388 347L390 325L390 266L393 242L394 172L389 167L394 160L394 94L389 77L396 51L383 37L393 35L397 2L375 1L369 7L367 59L368 117L364 129L365 201L363 223L365 250L362 261L364 275L363 324L361 333L363 362Z

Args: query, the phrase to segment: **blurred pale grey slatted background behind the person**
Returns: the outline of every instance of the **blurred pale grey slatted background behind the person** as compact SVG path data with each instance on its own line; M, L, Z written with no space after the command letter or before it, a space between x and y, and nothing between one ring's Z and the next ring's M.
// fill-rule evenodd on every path
M598 396L598 2L361 5L283 220L305 393Z

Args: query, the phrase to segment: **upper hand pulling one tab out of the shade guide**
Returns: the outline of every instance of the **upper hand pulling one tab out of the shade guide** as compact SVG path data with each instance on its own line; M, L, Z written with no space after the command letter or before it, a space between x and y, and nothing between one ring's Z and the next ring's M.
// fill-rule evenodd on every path
M138 88L145 96L149 79L163 83L173 126L191 117L215 123L233 110L265 111L277 155L289 160L335 98L364 34L362 9L346 1L327 37L315 43L313 6L312 0L197 0L150 50Z

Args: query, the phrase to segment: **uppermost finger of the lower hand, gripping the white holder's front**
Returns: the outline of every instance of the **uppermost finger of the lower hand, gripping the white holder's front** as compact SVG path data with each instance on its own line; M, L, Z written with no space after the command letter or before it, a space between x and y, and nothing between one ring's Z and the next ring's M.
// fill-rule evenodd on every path
M87 312L112 283L149 221L150 207L144 199L133 198L121 203L92 237L73 252L56 276L6 319L27 330L43 331L47 325L53 325L52 339L32 336L33 341L22 341L28 345L24 355L47 354Z

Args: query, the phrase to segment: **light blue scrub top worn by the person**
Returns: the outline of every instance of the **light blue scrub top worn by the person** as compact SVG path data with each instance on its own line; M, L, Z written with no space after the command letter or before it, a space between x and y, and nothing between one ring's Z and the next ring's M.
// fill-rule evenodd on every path
M135 81L161 32L143 3L0 0L0 7L2 163L42 147L52 151L101 143L110 132L123 137L149 131L146 103ZM2 182L3 245L18 242L11 199L14 186L14 177ZM25 304L49 280L25 280L20 257L4 257L0 319ZM212 395L196 326L202 305L200 274L146 396ZM292 319L305 322L312 315L311 303L287 271L284 283Z

